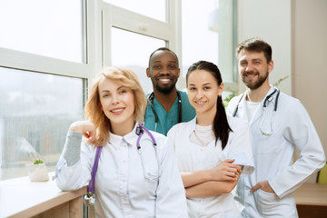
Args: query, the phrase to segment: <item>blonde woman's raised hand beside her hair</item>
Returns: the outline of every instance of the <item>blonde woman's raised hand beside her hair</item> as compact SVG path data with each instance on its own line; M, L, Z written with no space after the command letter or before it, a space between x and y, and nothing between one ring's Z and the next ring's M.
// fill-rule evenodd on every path
M91 121L77 121L70 125L69 131L83 134L87 142L92 144L96 135L96 127Z

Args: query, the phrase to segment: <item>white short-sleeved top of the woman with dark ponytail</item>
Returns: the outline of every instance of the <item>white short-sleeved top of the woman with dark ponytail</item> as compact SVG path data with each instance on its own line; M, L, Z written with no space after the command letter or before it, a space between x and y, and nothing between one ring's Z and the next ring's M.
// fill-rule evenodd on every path
M226 159L244 165L243 174L253 173L253 153L249 125L242 120L228 117L233 130L228 143L222 151L221 141L215 140L206 146L190 142L195 130L196 117L188 122L176 124L167 136L173 141L180 172L196 172L212 169ZM241 211L233 200L232 193L224 193L207 198L187 198L189 217L241 217Z

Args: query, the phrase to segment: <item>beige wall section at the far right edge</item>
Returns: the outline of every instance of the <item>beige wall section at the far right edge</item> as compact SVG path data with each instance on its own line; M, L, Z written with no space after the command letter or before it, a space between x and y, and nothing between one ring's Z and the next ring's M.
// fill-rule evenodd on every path
M327 154L327 1L292 0L292 95L301 100Z

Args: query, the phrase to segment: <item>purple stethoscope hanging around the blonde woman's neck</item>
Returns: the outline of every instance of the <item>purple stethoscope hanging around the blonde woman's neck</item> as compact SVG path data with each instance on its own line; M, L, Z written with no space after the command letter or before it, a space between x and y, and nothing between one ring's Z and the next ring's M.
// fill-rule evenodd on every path
M144 131L146 132L146 134L148 134L150 136L150 138L151 138L151 140L153 142L155 158L156 158L156 161L157 161L157 164L158 164L158 173L145 173L144 158L143 158L143 155L142 155L141 144L140 144L140 141L141 141L142 135L144 134ZM137 141L136 141L136 147L137 147L138 154L141 157L141 163L142 163L142 169L143 169L143 172L144 172L144 178L147 179L147 180L158 179L160 177L161 173L162 173L162 170L161 170L161 164L160 164L160 161L159 161L159 156L158 156L158 153L157 153L156 141L154 139L154 135L151 134L150 131L148 129L146 129L144 127L144 125L142 125L142 124L138 124L138 126L136 127L135 134L138 135ZM98 166L98 163L99 163L100 154L101 154L102 149L103 149L103 146L99 146L99 147L96 148L96 154L95 154L95 157L94 157L94 165L92 167L92 172L91 172L91 181L89 182L89 184L87 186L87 193L84 195L84 203L86 205L94 205L94 203L95 203L95 198L94 198L95 174L96 174L96 171L97 171L97 166Z

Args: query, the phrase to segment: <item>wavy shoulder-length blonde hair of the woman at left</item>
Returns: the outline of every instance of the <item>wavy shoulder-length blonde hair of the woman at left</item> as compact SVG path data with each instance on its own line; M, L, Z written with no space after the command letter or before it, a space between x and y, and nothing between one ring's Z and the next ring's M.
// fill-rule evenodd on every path
M104 145L109 141L111 131L110 120L101 109L99 84L104 78L115 80L125 87L132 89L134 94L134 119L142 124L144 122L144 112L146 108L146 97L134 72L119 67L104 67L94 78L91 92L84 107L85 119L90 120L96 127L95 146Z

